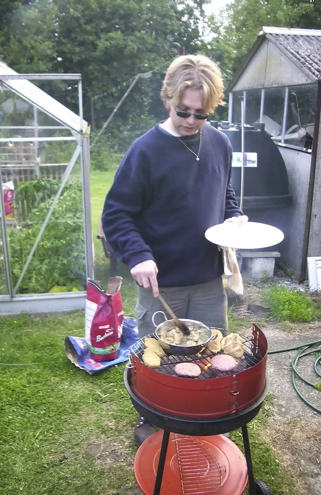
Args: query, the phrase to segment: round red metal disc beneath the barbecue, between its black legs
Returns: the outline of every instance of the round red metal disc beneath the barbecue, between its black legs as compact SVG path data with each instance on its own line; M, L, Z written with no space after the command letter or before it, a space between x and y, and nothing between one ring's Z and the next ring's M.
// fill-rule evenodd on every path
M134 474L144 495L153 495L163 432L139 448ZM247 484L246 460L223 435L170 434L160 495L241 495Z

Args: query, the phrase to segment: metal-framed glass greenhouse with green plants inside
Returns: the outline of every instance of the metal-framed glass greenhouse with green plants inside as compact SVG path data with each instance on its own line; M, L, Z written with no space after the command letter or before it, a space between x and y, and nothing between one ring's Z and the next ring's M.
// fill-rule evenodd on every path
M42 89L66 82L79 115ZM0 62L0 197L0 313L84 308L93 254L79 74L17 74Z

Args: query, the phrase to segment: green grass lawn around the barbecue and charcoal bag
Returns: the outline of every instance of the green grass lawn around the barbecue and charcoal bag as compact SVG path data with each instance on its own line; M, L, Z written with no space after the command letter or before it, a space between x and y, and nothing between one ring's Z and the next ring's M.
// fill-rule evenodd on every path
M94 236L115 167L92 172ZM104 287L109 261L99 241L94 248L95 278ZM136 286L121 264L119 274L125 314L133 315ZM123 386L124 365L90 376L67 360L68 335L84 336L83 312L0 319L0 495L138 495L137 413ZM249 425L255 477L273 495L296 495L273 450L260 439L270 404L271 399ZM239 431L233 439L241 446Z

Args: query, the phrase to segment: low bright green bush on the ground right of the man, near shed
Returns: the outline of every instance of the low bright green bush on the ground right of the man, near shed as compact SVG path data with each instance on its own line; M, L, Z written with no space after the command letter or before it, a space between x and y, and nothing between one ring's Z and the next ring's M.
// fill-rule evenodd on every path
M263 293L271 313L278 320L311 321L314 317L313 301L306 294L284 286L275 286Z

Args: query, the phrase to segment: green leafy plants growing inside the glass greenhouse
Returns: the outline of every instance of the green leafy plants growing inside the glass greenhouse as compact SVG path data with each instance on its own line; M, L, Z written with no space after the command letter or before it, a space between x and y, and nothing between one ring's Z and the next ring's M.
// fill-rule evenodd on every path
M51 204L52 199L47 199L28 215L25 226L8 231L14 286ZM83 290L84 273L82 187L79 182L70 182L55 205L18 292L47 293L54 286L66 286L68 291L74 287Z

